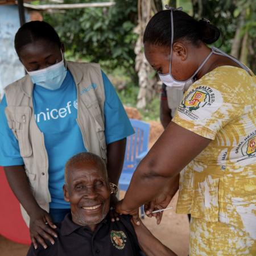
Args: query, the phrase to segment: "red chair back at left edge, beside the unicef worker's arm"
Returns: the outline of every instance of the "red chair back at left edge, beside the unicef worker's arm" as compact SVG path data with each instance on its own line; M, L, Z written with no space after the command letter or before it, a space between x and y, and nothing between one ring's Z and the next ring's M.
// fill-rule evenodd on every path
M2 167L0 167L0 216L0 235L14 242L30 245L30 232Z

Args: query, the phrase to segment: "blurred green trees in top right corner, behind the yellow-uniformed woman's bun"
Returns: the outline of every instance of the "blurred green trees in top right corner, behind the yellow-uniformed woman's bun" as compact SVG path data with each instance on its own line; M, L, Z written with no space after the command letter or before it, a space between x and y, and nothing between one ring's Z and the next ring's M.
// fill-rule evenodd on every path
M256 2L255 0L191 0L193 16L206 18L221 30L215 43L256 71Z

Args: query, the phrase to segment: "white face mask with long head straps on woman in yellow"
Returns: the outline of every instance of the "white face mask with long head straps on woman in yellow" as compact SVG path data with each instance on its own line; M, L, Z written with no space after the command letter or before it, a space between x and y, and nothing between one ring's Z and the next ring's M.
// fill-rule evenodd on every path
M169 73L167 74L161 74L158 73L159 79L167 86L170 86L172 88L176 88L179 90L187 90L191 84L193 84L193 78L195 77L196 73L199 72L199 70L203 67L203 65L207 62L210 56L212 56L213 52L210 52L209 55L205 58L203 63L197 68L196 72L193 73L189 79L185 81L178 81L175 80L174 77L172 76L171 70L172 70L172 44L174 43L174 17L172 15L172 11L175 10L182 10L182 7L179 7L178 9L168 7L166 6L167 9L171 11L171 56L170 56L170 67L169 67Z

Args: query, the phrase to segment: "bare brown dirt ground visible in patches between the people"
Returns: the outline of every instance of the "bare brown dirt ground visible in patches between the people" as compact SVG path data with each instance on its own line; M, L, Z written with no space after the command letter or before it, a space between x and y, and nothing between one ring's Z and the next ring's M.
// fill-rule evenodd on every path
M129 109L129 113L127 111L130 118L136 116L138 119L137 113L135 112L136 109ZM151 147L163 132L163 127L156 121L151 121L149 123L151 125L149 147ZM121 191L119 196L122 198L124 195L125 192ZM176 201L177 194L170 203L170 206L173 206L174 209L166 210L166 212L164 212L160 225L156 225L155 218L145 217L143 222L151 233L164 245L170 247L177 255L186 256L188 255L189 239L188 217L185 214L175 213ZM11 242L0 236L0 256L26 256L27 250L28 246Z

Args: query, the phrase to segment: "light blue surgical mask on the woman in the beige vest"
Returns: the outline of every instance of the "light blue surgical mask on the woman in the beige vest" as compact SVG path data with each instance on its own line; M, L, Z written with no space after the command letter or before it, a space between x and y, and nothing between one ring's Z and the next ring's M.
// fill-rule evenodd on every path
M31 72L26 70L28 75L30 75L32 82L48 90L59 89L67 75L67 68L64 65L64 57L62 51L61 56L62 60L60 62L47 68Z

